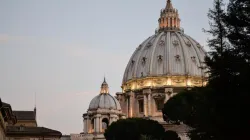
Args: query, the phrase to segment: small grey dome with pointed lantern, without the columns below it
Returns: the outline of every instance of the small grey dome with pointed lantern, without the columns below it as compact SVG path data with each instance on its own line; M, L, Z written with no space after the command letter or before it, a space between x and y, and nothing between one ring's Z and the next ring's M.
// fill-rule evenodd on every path
M109 94L108 84L105 79L101 86L101 93L94 97L89 105L89 110L97 109L121 110L118 100Z

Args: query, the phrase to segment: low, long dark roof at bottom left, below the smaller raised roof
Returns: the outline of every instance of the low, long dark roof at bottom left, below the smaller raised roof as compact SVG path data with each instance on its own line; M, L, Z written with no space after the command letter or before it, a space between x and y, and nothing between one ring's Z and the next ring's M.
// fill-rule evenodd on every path
M12 136L62 136L62 133L45 127L7 126L6 135Z

